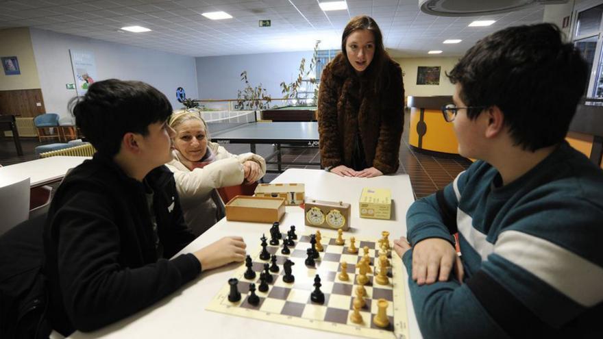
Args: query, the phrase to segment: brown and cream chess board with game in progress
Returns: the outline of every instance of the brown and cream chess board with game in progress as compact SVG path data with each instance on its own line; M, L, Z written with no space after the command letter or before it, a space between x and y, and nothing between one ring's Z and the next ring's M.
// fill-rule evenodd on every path
M406 316L404 291L406 287L402 273L404 268L402 268L402 260L397 253L391 251L393 256L390 260L391 275L393 278L389 279L389 285L379 285L376 282L373 284L373 277L377 274L374 263L377 262L377 266L379 266L379 260L376 260L378 258L377 242L358 241L359 239L357 239L358 253L353 254L347 252L349 244L347 238L342 246L335 244L336 236L329 237L326 234L327 232L323 233L321 240L324 250L319 252L320 258L316 260L314 268L304 264L306 249L311 247L309 236L298 236L298 239L295 240L295 247L290 247L290 255L280 253L282 240L280 246L269 245L268 251L277 255L280 271L271 273L273 282L269 284L267 292L256 290L260 303L254 306L247 302L249 284L255 283L257 289L260 285L260 272L263 271L265 263L270 263L270 260L260 260L262 248L258 247L255 253L249 253L253 260L253 270L257 273L256 278L245 279L243 276L247 269L245 265L238 268L232 275L239 281L238 290L241 292L241 301L236 303L228 301L230 286L227 281L224 281L224 287L212 299L206 310L367 338L408 338L408 317ZM349 315L354 312L352 303L356 296L354 291L358 286L356 263L362 258L364 254L362 247L365 246L369 247L372 273L367 275L369 283L365 285L367 303L360 310L363 323L356 324L349 320ZM287 258L295 262L295 265L292 266L295 281L291 284L282 280L284 275L282 264ZM338 277L343 261L347 262L348 281L341 281ZM323 305L310 301L310 293L314 290L314 278L317 274L321 277L321 291L325 294ZM373 323L373 317L378 310L377 301L381 298L389 302L387 316L390 324L386 328L377 327Z

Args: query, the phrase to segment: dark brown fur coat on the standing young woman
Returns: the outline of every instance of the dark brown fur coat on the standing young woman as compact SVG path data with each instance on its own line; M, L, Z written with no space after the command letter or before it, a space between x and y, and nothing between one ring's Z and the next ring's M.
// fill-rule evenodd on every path
M317 118L325 167L351 164L359 132L368 166L383 174L397 171L404 125L402 69L393 60L386 62L383 73L389 79L378 92L371 71L359 77L343 53L323 70Z

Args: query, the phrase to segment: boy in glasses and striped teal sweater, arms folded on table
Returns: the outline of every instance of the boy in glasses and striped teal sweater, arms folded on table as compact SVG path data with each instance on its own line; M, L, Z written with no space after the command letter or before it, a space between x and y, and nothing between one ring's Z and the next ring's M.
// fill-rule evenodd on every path
M603 172L565 142L586 63L543 23L487 36L447 76L445 119L478 161L395 240L423 337L603 338Z

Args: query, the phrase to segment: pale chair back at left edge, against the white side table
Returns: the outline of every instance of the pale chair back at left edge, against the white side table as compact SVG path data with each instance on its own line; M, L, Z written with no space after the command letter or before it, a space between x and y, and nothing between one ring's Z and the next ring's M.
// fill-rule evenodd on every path
M29 218L29 177L0 178L0 236Z

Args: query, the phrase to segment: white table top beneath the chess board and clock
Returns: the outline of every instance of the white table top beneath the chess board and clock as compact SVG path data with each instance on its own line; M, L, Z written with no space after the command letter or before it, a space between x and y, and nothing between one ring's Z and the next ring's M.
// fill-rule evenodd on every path
M371 179L338 177L333 173L321 170L288 169L273 183L304 183L306 197L330 201L344 201L352 204L350 230L354 235L364 238L381 238L381 231L391 232L390 239L406 235L406 210L413 203L413 191L408 175L382 176ZM362 188L390 188L394 203L391 221L365 219L358 216L358 199ZM281 221L281 231L295 225L297 234L315 231L317 228L304 226L304 210L299 206L287 206ZM226 221L223 218L211 229L199 236L185 247L181 253L189 253L201 249L223 236L242 236L248 249L255 251L260 245L262 233L269 234L271 224L242 223ZM334 235L336 232L321 229L323 234ZM345 236L349 236L346 232ZM230 264L201 274L201 277L191 281L170 296L155 305L148 307L117 323L99 329L92 333L76 332L71 338L237 338L265 339L279 338L349 338L315 329L293 327L257 321L251 318L241 318L228 314L206 311L205 307L224 286L232 272L241 267L240 264ZM404 277L405 281L408 277ZM410 338L421 338L413 305L406 290L408 307L408 324ZM393 336L392 336L393 338Z

